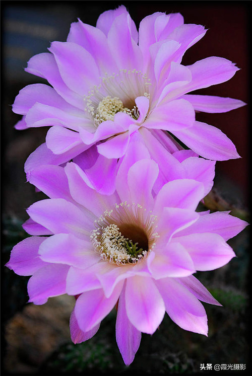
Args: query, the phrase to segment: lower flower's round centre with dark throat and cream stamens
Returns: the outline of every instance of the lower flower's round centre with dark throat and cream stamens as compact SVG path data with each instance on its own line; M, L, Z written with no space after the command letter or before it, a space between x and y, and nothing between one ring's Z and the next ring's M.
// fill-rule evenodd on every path
M141 261L155 245L156 217L139 204L127 202L115 205L96 220L90 239L103 260L117 265Z

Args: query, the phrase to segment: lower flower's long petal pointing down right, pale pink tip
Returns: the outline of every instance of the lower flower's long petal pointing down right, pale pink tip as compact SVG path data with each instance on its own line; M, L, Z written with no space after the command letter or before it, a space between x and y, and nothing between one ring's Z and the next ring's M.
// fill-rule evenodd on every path
M207 315L199 300L173 278L159 279L156 283L171 320L182 329L207 336Z

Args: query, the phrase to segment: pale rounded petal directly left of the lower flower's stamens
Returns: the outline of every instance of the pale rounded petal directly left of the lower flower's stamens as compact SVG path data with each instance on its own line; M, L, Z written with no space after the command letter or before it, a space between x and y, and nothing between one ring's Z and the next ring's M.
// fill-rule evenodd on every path
M57 234L47 238L39 247L43 261L67 264L81 269L100 261L90 242L76 238L72 234Z

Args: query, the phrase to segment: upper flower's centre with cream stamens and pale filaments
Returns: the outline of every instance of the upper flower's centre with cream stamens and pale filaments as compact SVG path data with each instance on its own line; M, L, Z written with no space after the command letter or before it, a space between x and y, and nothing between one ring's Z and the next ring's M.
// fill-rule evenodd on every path
M140 96L150 98L150 79L140 70L120 69L112 76L101 78L101 84L94 86L84 96L85 112L99 126L106 120L113 120L117 112L126 112L138 119L135 99Z

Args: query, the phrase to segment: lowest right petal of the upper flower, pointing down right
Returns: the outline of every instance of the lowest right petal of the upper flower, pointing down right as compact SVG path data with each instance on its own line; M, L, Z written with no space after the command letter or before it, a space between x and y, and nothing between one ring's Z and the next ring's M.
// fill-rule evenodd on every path
M239 158L233 142L218 128L196 121L190 128L173 131L186 146L214 161Z

